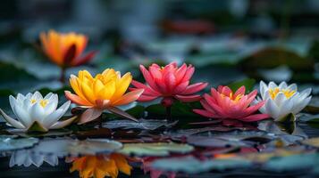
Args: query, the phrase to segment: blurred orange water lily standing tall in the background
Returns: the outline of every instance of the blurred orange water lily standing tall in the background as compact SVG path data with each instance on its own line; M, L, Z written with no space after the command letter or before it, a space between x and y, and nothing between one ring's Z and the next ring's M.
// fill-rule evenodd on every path
M88 44L88 36L74 32L65 34L57 33L55 30L42 32L40 41L44 53L63 70L62 77L65 69L85 64L96 54L96 52L83 54Z

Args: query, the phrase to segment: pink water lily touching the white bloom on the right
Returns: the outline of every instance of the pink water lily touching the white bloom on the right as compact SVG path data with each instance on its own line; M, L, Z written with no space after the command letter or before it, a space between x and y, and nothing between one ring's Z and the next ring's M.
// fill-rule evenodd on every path
M200 101L204 109L194 109L199 115L221 119L224 124L243 121L254 122L269 117L267 114L255 114L264 106L264 101L255 105L257 91L245 94L245 86L241 86L235 93L228 86L218 86L217 91L212 88L211 95L205 93L204 99Z

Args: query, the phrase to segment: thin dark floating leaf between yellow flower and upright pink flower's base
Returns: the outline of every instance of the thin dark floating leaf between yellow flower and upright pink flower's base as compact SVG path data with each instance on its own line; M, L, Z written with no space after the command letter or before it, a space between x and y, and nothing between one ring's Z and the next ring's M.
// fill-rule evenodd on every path
M139 122L134 122L131 120L113 120L103 124L106 128L123 128L123 129L145 129L145 130L155 130L159 127L170 127L175 125L178 121L173 123L168 123L166 120L155 120L155 119L139 119Z

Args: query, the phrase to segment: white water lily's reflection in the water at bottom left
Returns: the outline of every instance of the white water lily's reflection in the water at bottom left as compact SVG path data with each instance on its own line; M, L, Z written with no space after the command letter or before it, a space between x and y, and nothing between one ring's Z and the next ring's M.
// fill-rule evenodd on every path
M11 155L9 166L25 166L29 167L31 165L34 166L42 166L43 163L47 163L50 166L57 166L59 164L59 159L56 155L44 155L38 152L34 152L34 150L15 150Z

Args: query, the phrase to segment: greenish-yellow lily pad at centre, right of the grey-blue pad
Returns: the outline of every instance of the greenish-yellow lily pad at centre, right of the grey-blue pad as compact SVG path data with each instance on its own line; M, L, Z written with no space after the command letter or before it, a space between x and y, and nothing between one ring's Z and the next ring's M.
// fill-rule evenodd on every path
M188 153L194 148L188 144L174 142L126 143L119 152L125 155L164 157L173 153Z

